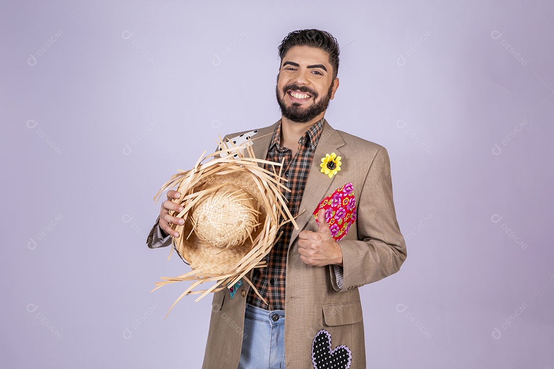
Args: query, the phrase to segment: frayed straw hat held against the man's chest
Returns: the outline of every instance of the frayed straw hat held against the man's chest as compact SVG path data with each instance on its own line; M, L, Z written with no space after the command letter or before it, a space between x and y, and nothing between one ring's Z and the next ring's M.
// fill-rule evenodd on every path
M272 173L259 165L269 162L254 157L252 140L239 145L220 141L218 145L218 152L202 156L193 169L179 170L154 198L177 185L181 198L173 201L183 207L178 214L170 212L184 220L183 225L172 225L181 235L172 238L172 243L192 270L179 277L162 277L155 288L192 281L171 309L185 295L201 293L198 301L210 292L232 287L241 278L254 287L245 276L253 268L265 267L263 258L283 224L279 219L297 227L281 195L281 189L288 189L280 183L284 180L280 171ZM201 164L207 158L211 159ZM214 284L194 290L205 282Z

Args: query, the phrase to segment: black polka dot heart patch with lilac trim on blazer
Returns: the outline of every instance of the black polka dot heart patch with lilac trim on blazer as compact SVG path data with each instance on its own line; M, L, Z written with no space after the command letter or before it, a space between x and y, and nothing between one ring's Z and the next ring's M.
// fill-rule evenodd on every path
M348 369L352 363L352 352L345 345L331 350L331 334L326 330L317 332L312 343L314 369Z

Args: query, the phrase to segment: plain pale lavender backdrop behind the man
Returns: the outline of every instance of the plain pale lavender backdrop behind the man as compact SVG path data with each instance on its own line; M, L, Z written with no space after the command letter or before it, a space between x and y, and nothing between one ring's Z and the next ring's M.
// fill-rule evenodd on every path
M164 320L186 285L150 293L186 271L145 245L152 196L276 121L276 47L321 28L342 47L327 120L388 149L408 247L360 290L368 367L554 368L553 11L3 1L2 367L201 366L211 298Z

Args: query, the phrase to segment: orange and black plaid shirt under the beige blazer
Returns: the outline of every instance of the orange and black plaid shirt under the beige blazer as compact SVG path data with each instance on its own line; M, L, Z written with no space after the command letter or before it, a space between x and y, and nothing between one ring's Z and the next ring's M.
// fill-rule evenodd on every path
M298 215L302 194L304 194L304 187L324 123L325 119L322 118L304 133L304 136L298 140L298 151L294 158L290 149L283 148L280 145L281 123L275 129L273 138L271 138L266 160L274 163L281 163L284 160L281 175L288 179L288 182L283 181L282 183L290 189L290 192L284 191L283 196L288 201L289 210L293 216ZM273 170L272 167L273 165L265 164L267 170ZM293 229L293 224L290 222L281 226L280 231L283 232L283 235L264 258L267 266L265 268L255 268L252 274L252 284L258 289L260 295L267 300L269 306L258 297L252 288L248 292L247 303L267 310L285 309L286 255Z

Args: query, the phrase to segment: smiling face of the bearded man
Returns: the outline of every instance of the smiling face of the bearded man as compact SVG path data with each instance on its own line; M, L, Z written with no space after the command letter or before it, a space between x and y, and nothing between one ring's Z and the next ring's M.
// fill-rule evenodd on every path
M275 89L283 117L297 123L319 120L337 88L326 51L294 46L283 57Z

